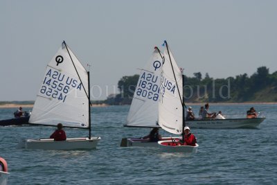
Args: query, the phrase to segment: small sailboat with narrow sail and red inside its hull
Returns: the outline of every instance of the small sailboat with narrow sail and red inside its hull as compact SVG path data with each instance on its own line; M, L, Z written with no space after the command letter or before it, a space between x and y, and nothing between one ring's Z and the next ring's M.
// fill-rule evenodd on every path
M175 58L165 41L164 63L161 71L161 87L159 94L159 125L172 134L184 136L184 76L177 66ZM183 138L184 141L184 138ZM159 148L164 152L197 152L196 146L186 146L179 139L159 141Z

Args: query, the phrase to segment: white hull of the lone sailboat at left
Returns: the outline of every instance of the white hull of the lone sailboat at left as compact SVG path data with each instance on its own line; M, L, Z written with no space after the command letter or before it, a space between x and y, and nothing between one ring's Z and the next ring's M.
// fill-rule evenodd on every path
M17 148L40 150L91 150L96 148L100 137L71 138L66 141L54 141L53 139L25 139L19 142Z

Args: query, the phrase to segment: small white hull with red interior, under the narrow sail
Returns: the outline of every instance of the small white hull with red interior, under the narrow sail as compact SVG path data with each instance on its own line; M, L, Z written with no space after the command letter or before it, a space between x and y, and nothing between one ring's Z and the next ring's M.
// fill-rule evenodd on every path
M198 144L196 146L168 146L167 143L172 143L172 141L159 141L158 145L162 152L182 152L188 154L195 154L197 152ZM179 143L179 141L174 141L173 143Z

